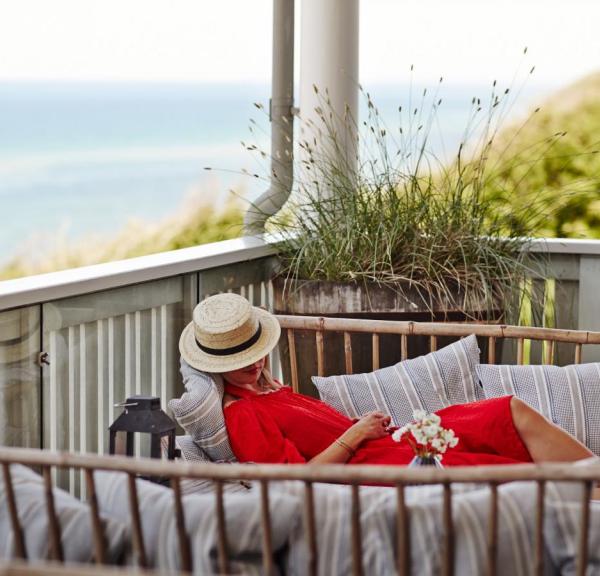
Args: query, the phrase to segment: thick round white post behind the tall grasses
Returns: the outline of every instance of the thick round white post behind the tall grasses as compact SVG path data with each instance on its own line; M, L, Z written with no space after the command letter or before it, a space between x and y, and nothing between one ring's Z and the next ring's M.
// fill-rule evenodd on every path
M359 0L302 0L300 141L319 141L324 126L317 108L327 117L332 112L337 153L349 172L356 168L358 33Z

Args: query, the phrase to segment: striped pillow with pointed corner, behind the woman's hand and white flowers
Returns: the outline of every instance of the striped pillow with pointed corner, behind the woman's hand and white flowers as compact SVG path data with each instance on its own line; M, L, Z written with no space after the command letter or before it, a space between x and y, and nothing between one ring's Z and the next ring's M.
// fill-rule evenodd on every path
M425 356L404 360L369 374L313 376L321 400L350 418L380 410L396 426L412 420L413 410L427 412L483 399L475 366L479 347L474 335Z

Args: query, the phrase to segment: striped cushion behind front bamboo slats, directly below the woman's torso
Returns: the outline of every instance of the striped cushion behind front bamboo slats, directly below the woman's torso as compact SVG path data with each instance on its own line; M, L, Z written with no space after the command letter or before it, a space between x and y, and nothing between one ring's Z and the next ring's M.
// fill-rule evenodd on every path
M161 574L180 573L180 540L174 509L173 491L145 480L136 480L142 532L150 568ZM131 525L127 474L97 472L96 493L103 513ZM192 573L220 574L216 566L218 530L214 494L189 494L182 498L185 531L192 555ZM225 529L228 574L262 574L263 547L261 491L258 486L239 494L225 494ZM82 506L84 506L82 504ZM283 548L302 515L302 501L270 491L271 545ZM89 526L89 510L86 510ZM43 514L42 514L43 515ZM130 572L128 572L130 573Z

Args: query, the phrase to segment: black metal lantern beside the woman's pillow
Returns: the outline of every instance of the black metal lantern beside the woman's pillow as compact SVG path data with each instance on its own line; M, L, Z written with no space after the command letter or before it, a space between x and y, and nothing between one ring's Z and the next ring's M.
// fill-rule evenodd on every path
M161 440L168 438L168 458L175 459L175 422L160 408L160 398L156 396L132 396L123 404L125 410L109 426L109 452L115 454L117 432L127 434L125 453L133 456L134 433L150 434L150 456L161 457Z

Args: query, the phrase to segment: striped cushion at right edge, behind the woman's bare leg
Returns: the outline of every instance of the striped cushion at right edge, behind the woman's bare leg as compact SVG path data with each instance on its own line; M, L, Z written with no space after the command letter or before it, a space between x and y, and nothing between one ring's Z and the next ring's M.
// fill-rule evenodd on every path
M477 374L486 398L514 394L600 455L600 364L495 366Z

